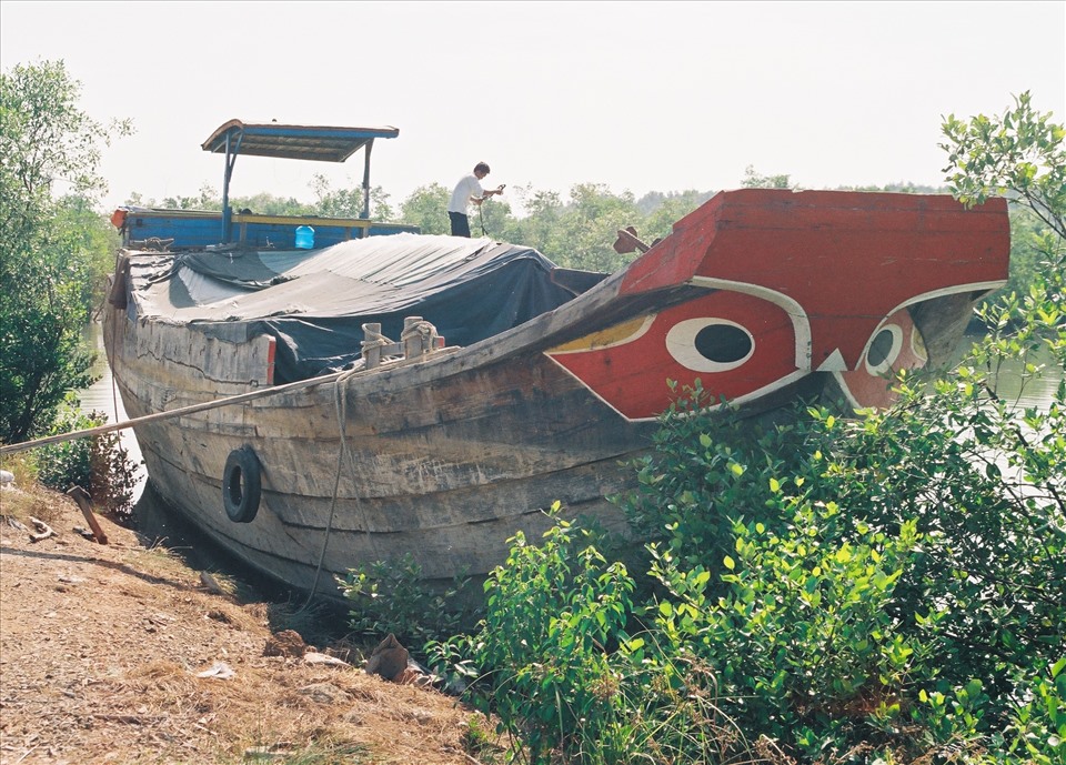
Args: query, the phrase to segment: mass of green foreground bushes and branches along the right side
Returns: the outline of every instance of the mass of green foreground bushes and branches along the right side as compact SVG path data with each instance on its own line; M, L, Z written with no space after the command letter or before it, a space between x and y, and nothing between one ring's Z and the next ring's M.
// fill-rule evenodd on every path
M953 193L1027 208L1025 291L886 411L753 423L677 391L616 499L643 547L515 536L477 628L425 646L515 761L1066 762L1066 383L1022 411L994 385L1066 369L1064 131L1024 94L944 134Z

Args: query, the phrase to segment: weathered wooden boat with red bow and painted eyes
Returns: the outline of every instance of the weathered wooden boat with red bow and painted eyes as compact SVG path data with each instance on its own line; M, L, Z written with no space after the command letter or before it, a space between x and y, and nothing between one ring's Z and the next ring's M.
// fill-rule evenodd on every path
M105 343L162 496L336 596L334 574L405 553L430 582L485 574L555 501L621 529L605 497L632 485L667 380L752 412L887 403L887 373L956 350L1008 249L1002 201L757 189L610 275L412 233L128 249Z

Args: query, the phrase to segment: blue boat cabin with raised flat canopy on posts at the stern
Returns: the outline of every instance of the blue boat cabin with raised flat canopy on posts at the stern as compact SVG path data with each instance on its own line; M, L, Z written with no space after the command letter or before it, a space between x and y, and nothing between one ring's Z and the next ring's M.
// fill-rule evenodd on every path
M230 120L201 144L225 158L222 211L165 210L123 207L111 222L128 248L167 245L171 249L245 245L257 249L323 248L352 239L400 232L419 233L418 227L376 222L370 217L370 158L374 141L396 138L398 128L338 128L278 122ZM234 211L230 179L241 154L315 162L345 162L363 150L363 209L359 218L263 215Z

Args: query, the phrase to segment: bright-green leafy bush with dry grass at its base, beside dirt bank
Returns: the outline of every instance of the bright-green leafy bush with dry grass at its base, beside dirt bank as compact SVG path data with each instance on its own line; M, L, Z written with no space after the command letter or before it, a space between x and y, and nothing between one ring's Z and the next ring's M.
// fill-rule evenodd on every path
M539 546L522 533L511 540L485 583L476 633L433 646L435 667L475 678L469 698L522 744L512 761L606 765L642 753L712 763L746 753L705 665L663 652L650 633L628 636L633 580L559 511Z

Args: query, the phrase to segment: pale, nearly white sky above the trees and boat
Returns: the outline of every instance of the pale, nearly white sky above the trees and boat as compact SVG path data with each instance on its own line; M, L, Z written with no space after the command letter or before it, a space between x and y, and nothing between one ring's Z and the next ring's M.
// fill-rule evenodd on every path
M1066 121L1066 2L21 2L0 64L63 60L98 121L104 208L221 191L200 144L230 119L393 125L371 183L399 205L479 161L563 199L740 187L941 185L942 118L1028 90ZM231 193L313 201L345 164L238 159ZM512 202L517 202L513 195Z

